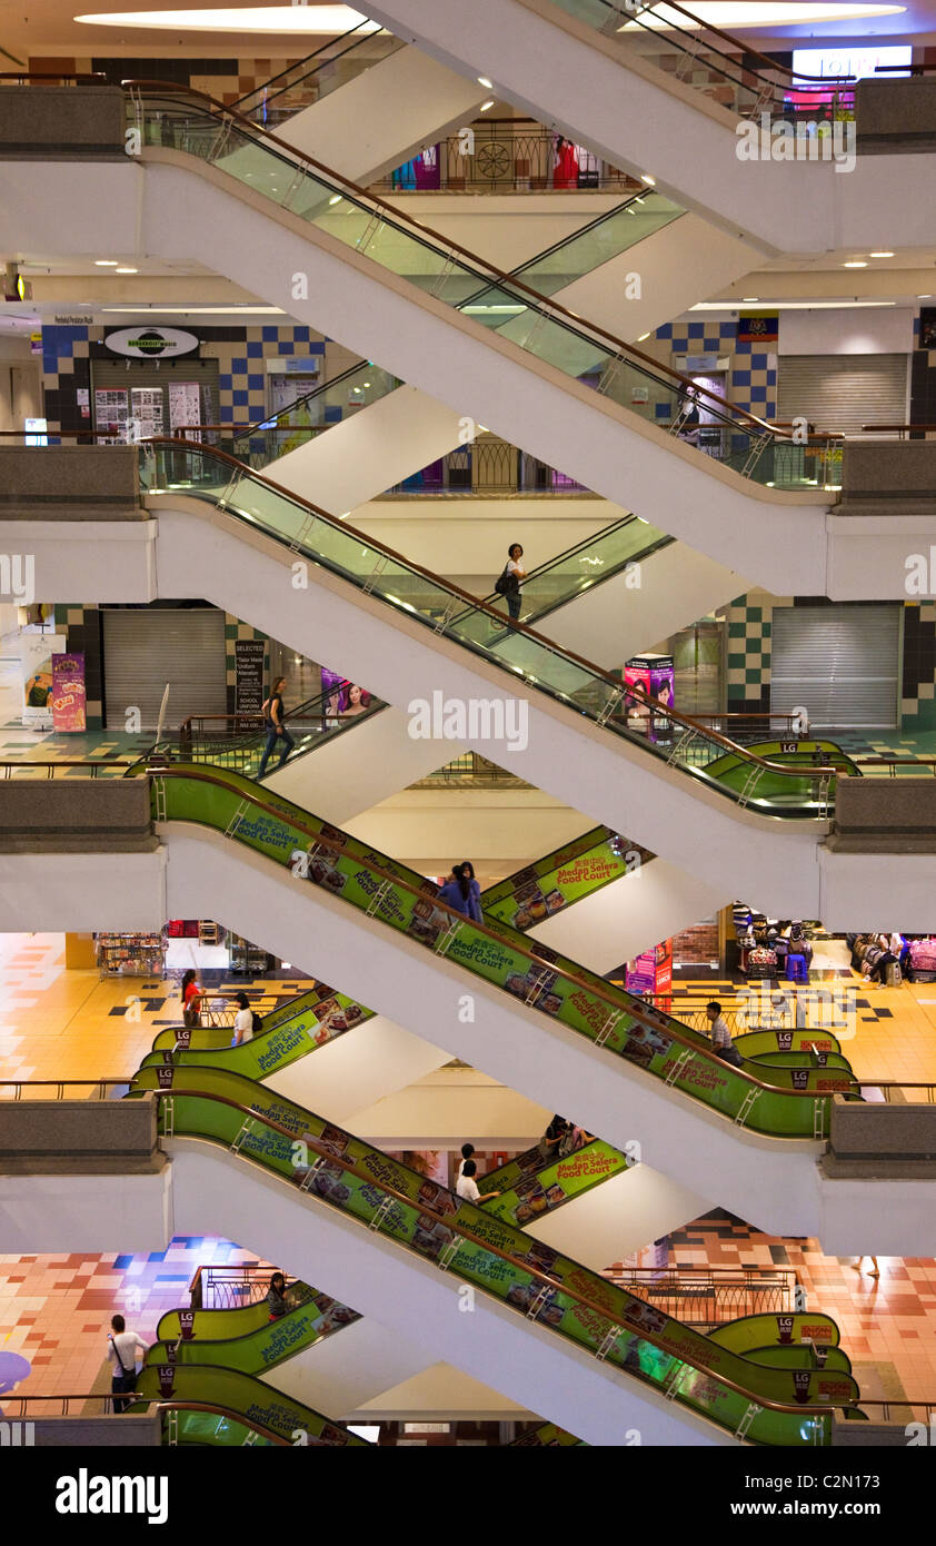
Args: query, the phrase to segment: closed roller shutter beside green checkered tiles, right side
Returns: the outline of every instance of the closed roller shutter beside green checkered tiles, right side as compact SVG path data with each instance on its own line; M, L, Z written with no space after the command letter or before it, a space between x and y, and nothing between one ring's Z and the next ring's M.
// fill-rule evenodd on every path
M817 730L894 730L900 604L775 606L771 708L809 711Z

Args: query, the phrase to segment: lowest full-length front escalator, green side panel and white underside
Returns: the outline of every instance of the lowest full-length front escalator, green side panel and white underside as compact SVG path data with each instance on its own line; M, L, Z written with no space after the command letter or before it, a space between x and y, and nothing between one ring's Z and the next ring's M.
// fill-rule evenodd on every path
M828 1442L831 1408L851 1408L859 1399L845 1370L772 1368L718 1347L334 1124L235 1074L198 1068L171 1070L165 1078L145 1070L134 1093L147 1088L161 1091L176 1228L184 1220L182 1228L190 1229L204 1207L221 1206L215 1228L224 1229L233 1209L239 1234L269 1257L278 1228L289 1220L297 1268L306 1271L310 1252L317 1252L326 1292L354 1297L365 1316L375 1314L402 1336L412 1334L419 1320L432 1356L448 1356L527 1405L536 1365L542 1402L533 1410L539 1405L550 1421L588 1442L619 1432L607 1427L612 1413L621 1424L641 1407L660 1433L664 1405L670 1411L666 1430L695 1432L698 1442L706 1439L700 1416L749 1442ZM218 1195L219 1183L227 1204ZM261 1197L267 1197L266 1211L258 1206ZM329 1241L334 1249L327 1249ZM369 1265L363 1277L361 1263ZM348 1296L352 1272L358 1288ZM402 1285L405 1292L398 1292ZM459 1334L457 1320L451 1322L459 1285L476 1292L477 1330L497 1325L499 1336ZM570 1345L593 1356L584 1382L568 1365ZM508 1360L502 1356L507 1347ZM647 1399L653 1390L666 1393L666 1402ZM230 1401L226 1391L226 1404ZM707 1438L717 1441L715 1435Z

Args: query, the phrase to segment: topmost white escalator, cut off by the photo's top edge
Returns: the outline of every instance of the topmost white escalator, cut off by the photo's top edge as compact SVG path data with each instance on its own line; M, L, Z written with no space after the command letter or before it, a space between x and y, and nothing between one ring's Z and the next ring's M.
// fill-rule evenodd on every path
M876 158L856 156L854 138L845 138L857 117L862 145L854 79L794 76L751 42L700 22L692 8L479 0L466 17L457 0L382 0L374 15L453 70L487 71L514 107L765 250L873 250L891 246L897 229L907 246L933 243L931 206L913 209L913 156L888 155L882 178ZM768 139L766 153L755 142L757 155L746 158L738 124L757 124L761 113L771 127L788 122L794 131L797 117L825 119L829 130L837 119L840 139L829 133L828 148L811 156L791 144L786 159L771 156ZM910 226L894 223L900 204L911 210Z

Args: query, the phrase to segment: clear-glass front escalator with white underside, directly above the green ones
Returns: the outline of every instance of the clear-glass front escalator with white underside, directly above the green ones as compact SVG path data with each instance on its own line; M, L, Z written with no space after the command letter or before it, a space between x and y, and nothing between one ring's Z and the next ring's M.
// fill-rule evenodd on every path
M677 710L655 708L649 737L619 676L504 626L457 586L205 447L150 442L144 481L167 594L185 595L198 575L205 600L406 710L408 737L437 741L437 764L453 754L446 742L470 745L703 881L720 875L726 895L766 887L777 912L839 926L820 892L840 856L816 863L833 770L757 758ZM724 753L746 765L740 788L709 773Z

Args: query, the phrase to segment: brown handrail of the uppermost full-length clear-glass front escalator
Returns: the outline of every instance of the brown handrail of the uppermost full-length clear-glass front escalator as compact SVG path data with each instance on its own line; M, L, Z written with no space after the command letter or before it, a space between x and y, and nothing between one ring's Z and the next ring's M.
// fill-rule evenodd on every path
M670 365L663 365L660 360L655 360L650 354L646 354L643 349L638 349L636 345L626 343L624 339L618 339L616 334L610 332L607 328L602 328L599 323L588 322L584 317L576 317L576 314L570 311L567 306L562 306L561 301L553 300L548 295L542 295L539 291L534 291L530 284L525 284L524 280L513 278L510 274L505 274L504 269L499 269L488 258L479 257L476 252L471 252L470 247L462 246L462 243L456 241L453 237L445 237L432 226L426 226L425 221L415 220L408 210L402 210L397 206L389 204L386 199L380 198L378 193L369 193L357 182L352 182L351 178L346 178L341 172L335 172L332 167L326 167L321 161L317 161L306 152L297 150L295 145L287 144L287 141L280 139L278 135L273 135L270 130L255 124L253 119L246 117L242 113L238 113L232 107L226 107L222 102L218 102L215 97L209 96L207 91L198 91L195 87L175 87L175 85L167 87L165 82L145 80L145 79L139 80L130 79L130 80L122 80L120 83L122 87L125 87L131 100L133 100L133 93L137 93L141 99L144 96L196 97L201 104L207 105L210 117L219 116L221 119L230 119L246 133L249 139L263 139L264 142L269 142L272 147L281 152L290 162L297 164L300 170L303 167L310 167L317 175L324 175L324 178L327 178L332 184L341 184L343 187L351 190L355 203L378 206L380 210L385 212L385 220L388 220L388 223L411 226L417 235L417 240L422 241L423 244L436 247L442 246L445 250L457 252L460 257L468 258L476 269L482 271L479 277L483 278L483 274L487 272L488 280L485 280L485 283L488 283L490 278L493 278L497 284L513 284L514 289L522 291L525 295L531 298L533 309L556 312L562 318L562 325L567 326L568 331L579 332L581 335L585 335L585 331L590 334L598 334L601 340L605 340L613 346L616 354L639 360L643 366L649 368L650 374L656 371L658 374L667 376L670 382L678 383L678 386L683 388L683 391L692 388L692 394L695 399L706 397L709 402L717 404L718 410L726 417L738 419L743 425L752 425L760 434L769 434L772 441L788 441L794 444L792 433L783 434L782 431L775 430L774 425L771 425L766 419L758 419L757 414L752 414L746 408L741 408L738 404L731 402L731 399L721 397L718 393L714 393L709 388L698 386L698 383L694 382L692 377L684 376L681 371L673 369ZM280 209L284 206L275 206L275 207ZM286 210L286 213L289 213L289 210Z

